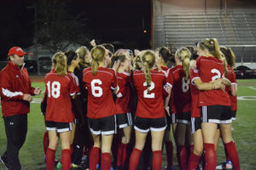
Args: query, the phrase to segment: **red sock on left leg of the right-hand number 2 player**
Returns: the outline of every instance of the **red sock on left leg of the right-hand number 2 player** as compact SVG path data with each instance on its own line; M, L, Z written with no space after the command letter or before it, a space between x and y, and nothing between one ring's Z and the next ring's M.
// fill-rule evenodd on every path
M214 149L214 144L204 143L205 157L206 157L206 169L215 170L217 165L217 156Z

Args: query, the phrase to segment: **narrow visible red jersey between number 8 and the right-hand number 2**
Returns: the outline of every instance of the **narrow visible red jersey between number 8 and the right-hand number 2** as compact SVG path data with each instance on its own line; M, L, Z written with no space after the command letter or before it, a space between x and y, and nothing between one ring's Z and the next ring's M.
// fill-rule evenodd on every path
M200 78L197 69L190 71L191 117L201 117L201 107L198 106L200 90L195 86L195 78Z

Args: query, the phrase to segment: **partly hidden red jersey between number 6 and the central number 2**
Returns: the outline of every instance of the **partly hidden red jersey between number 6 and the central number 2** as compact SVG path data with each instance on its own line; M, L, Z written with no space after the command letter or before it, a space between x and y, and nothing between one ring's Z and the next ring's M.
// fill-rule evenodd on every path
M131 95L131 76L128 72L118 72L116 74L119 91L115 100L116 113L124 114L131 112L130 95Z

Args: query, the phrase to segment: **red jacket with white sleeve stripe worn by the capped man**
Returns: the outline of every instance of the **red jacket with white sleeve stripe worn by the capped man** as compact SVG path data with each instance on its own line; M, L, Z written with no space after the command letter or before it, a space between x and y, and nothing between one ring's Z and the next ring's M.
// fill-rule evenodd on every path
M3 117L27 114L29 102L23 94L34 94L26 68L20 68L11 61L0 72L0 93Z

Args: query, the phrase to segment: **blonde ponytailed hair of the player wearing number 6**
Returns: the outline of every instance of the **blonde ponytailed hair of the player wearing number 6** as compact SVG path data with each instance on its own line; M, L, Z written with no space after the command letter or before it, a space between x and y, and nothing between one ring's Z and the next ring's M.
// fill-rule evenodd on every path
M92 48L90 51L91 54L91 70L92 74L96 76L96 72L99 68L99 61L102 61L106 54L106 49L102 45L97 45L96 47Z

